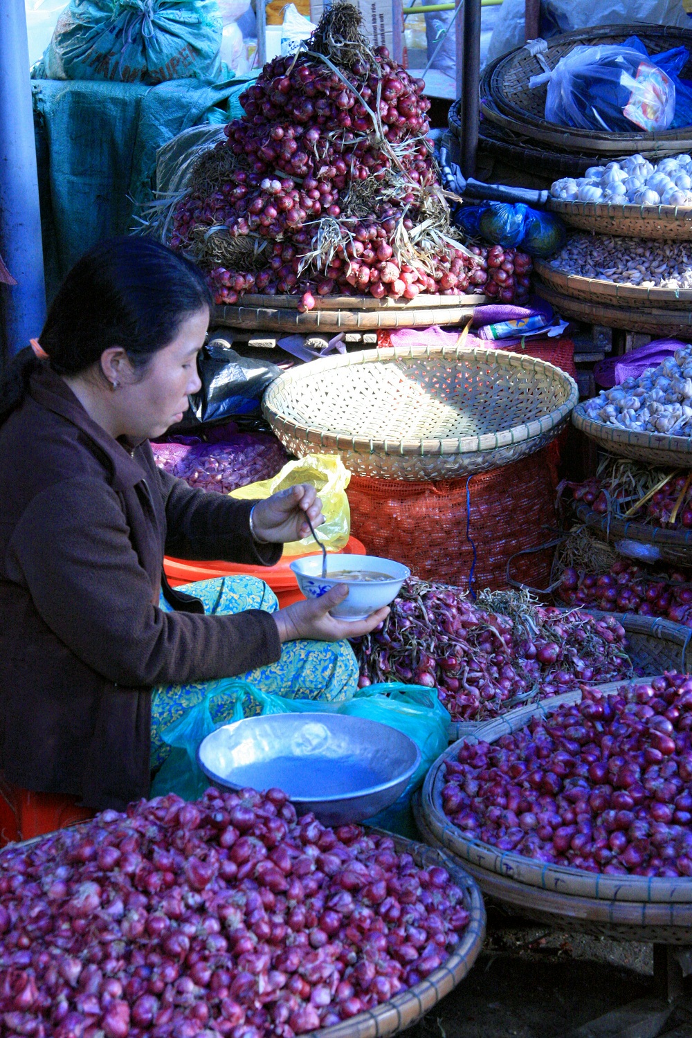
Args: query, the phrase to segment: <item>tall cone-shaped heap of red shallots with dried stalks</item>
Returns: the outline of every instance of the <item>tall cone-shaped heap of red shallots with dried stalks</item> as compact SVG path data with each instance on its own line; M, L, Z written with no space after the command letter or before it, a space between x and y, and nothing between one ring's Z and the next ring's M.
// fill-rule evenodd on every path
M386 48L372 52L360 22L337 0L306 50L265 65L215 148L216 190L202 177L175 206L171 248L204 267L218 304L290 294L305 311L319 296L408 300L487 282L504 302L527 298L527 256L474 255L456 241L424 82ZM224 239L236 251L222 262Z

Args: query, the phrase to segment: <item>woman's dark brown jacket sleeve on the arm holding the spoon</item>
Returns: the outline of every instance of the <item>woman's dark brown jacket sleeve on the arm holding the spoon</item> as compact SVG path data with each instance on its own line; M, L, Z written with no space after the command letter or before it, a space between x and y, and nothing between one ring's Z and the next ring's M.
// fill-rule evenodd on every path
M278 563L283 545L258 544L250 534L250 512L255 501L195 490L163 469L158 472L166 502L166 554L250 566Z

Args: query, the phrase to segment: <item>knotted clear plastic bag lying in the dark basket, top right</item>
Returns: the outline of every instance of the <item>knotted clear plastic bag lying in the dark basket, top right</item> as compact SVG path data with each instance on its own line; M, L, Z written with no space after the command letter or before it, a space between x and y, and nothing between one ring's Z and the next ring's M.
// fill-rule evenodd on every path
M530 83L546 81L546 119L558 126L608 133L667 130L675 114L674 83L632 47L575 47L552 73Z

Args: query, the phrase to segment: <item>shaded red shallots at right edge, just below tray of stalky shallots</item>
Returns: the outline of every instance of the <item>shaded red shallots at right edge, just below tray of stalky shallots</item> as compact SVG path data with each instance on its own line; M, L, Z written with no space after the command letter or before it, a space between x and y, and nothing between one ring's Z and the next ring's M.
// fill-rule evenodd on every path
M652 571L620 558L608 573L584 573L569 566L560 580L558 595L569 605L664 617L692 627L692 581L675 570Z

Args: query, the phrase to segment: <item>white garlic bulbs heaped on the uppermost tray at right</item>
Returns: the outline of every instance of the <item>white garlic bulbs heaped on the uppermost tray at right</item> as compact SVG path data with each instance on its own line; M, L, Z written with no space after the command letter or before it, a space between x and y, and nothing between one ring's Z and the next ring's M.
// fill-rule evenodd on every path
M677 155L653 166L643 155L591 166L585 176L563 176L550 193L560 201L635 206L692 206L692 158Z

